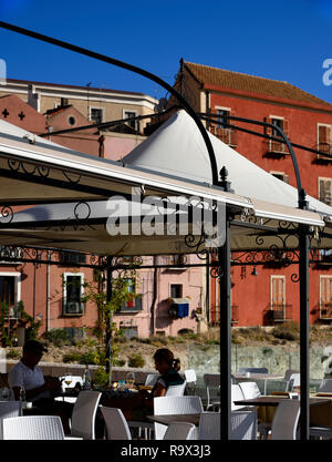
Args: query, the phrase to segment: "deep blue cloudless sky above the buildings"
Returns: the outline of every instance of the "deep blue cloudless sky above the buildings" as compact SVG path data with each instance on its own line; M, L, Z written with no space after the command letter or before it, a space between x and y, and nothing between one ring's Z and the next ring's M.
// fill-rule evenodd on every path
M135 64L173 84L179 59L287 81L332 103L332 1L0 0L2 21ZM0 29L12 79L165 96L149 80Z

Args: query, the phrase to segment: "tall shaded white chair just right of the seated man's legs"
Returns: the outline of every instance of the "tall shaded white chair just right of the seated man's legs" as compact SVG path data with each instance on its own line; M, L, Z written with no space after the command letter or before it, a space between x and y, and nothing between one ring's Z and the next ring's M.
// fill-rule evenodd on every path
M102 393L94 390L83 390L74 404L72 413L71 435L94 440L94 422Z

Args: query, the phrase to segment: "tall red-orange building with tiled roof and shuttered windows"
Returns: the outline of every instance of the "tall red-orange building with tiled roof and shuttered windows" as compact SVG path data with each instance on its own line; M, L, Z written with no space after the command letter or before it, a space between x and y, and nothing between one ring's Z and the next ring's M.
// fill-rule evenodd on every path
M292 160L284 144L227 127L230 123L259 133L276 135L272 129L231 122L225 115L278 125L292 143L318 150L294 148L302 187L332 205L332 105L287 82L224 71L188 62L177 75L181 89L198 112L217 114L207 129L264 171L297 186ZM215 119L216 120L216 119ZM230 185L231 187L231 185ZM231 267L234 326L269 326L286 320L299 321L298 265L274 263ZM234 254L236 260L237 255ZM332 258L319 251L310 267L310 321L332 321ZM222 315L221 315L222 316ZM210 280L210 322L220 319L216 280Z

